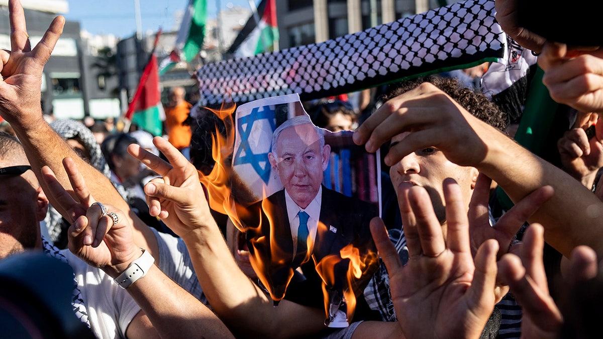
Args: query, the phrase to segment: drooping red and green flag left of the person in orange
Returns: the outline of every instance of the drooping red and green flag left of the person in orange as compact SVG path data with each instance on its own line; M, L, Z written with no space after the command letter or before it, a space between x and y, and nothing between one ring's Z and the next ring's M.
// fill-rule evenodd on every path
M161 104L157 57L154 53L151 54L142 72L136 94L128 106L128 112L125 113L125 119L154 136L162 135L165 113Z

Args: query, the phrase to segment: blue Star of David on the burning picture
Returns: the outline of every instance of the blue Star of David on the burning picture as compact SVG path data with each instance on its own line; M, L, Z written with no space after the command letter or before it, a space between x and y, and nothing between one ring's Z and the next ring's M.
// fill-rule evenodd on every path
M269 106L261 108L261 111L260 107L252 109L249 115L242 116L236 121L239 131L241 131L241 145L239 145L239 149L236 151L234 165L249 163L253 166L253 169L262 181L268 184L268 180L270 180L270 162L268 161L268 153L253 153L251 146L249 145L249 137L254 122L267 119L268 122L270 122L270 128L272 128L273 131L276 129L274 110ZM262 163L264 163L264 166L262 166Z

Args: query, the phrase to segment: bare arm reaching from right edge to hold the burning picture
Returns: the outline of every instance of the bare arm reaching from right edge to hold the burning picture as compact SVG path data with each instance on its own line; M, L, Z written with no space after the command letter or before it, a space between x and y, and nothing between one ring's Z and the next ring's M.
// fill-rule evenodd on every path
M368 151L392 136L410 131L385 157L388 165L420 148L436 147L461 166L474 166L517 202L552 186L553 197L529 219L545 225L545 240L564 256L578 245L603 255L603 203L551 163L535 156L490 125L470 115L429 83L385 103L354 135Z

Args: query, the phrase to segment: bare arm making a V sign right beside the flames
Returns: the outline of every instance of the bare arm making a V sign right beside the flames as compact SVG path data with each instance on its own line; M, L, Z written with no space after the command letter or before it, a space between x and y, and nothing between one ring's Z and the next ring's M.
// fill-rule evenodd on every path
M151 215L159 215L188 247L212 308L237 336L303 337L325 329L324 311L282 300L276 308L236 265L209 212L197 170L169 142L153 140L168 164L137 145L130 153L163 176L145 186Z

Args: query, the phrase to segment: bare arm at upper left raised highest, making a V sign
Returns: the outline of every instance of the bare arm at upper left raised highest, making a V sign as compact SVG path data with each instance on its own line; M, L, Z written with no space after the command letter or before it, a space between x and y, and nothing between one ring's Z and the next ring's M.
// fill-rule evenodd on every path
M25 28L25 15L21 3L18 0L9 2L10 26L11 26L11 51L0 51L2 59L1 74L4 78L0 80L0 115L8 121L23 144L25 153L36 173L42 188L48 192L40 169L49 166L57 179L65 187L69 187L69 180L63 171L63 157L69 156L74 159L78 168L90 185L97 198L103 201L112 201L113 204L128 214L128 221L134 225L134 241L140 247L145 247L151 253L157 253L157 240L153 232L130 211L128 204L121 195L113 188L112 183L102 173L81 160L69 145L63 141L61 136L42 118L40 108L40 84L42 83L42 71L44 64L48 61L58 37L63 32L65 18L55 17L48 30L33 49L28 40ZM72 215L67 213L69 207L62 206L52 195L48 198L57 211L66 218Z

